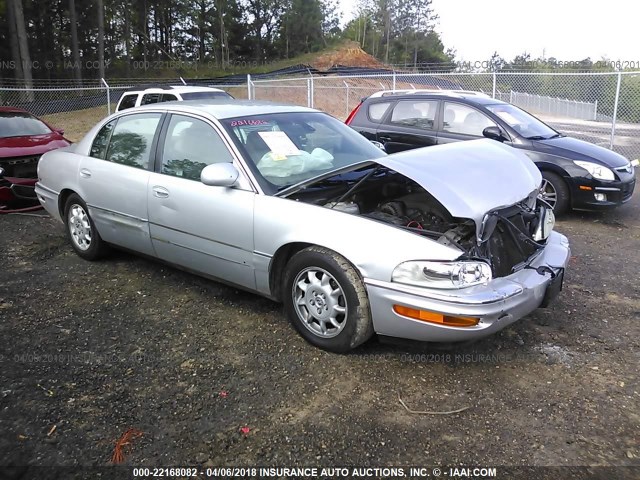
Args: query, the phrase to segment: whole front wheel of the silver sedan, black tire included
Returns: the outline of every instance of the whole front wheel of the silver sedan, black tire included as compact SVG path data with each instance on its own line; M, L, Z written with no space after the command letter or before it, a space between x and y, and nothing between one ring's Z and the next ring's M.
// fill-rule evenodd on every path
M316 347L344 353L373 335L362 279L331 250L309 247L296 253L286 266L282 291L287 317Z

